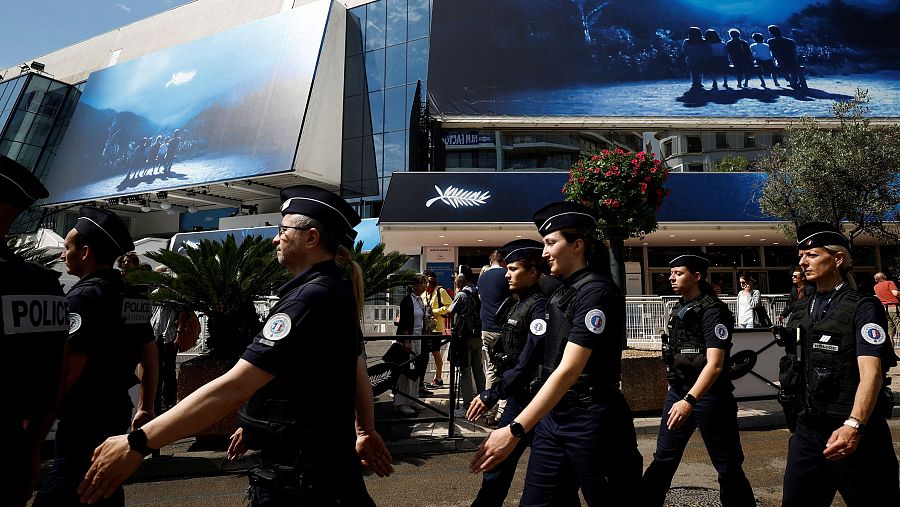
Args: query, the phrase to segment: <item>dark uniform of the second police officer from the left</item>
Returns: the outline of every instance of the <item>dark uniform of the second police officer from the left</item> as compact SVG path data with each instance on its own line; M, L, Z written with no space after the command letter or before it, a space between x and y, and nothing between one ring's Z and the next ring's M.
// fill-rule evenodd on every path
M87 356L81 375L63 398L56 428L56 458L34 506L81 505L75 489L91 464L94 449L107 437L128 431L132 403L128 390L144 345L153 342L151 304L133 291L115 269L95 271L68 295L69 350ZM116 493L97 505L124 505Z

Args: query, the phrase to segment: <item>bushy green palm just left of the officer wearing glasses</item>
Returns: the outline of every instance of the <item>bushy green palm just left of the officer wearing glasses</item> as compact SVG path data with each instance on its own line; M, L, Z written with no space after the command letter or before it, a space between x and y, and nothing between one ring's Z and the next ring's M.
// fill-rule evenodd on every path
M128 280L156 287L150 295L155 303L205 314L210 356L232 363L262 328L254 300L290 279L275 257L275 246L262 236L248 237L238 245L229 234L222 242L201 240L197 247L185 245L184 255L160 250L147 257L168 267L175 276L136 272Z

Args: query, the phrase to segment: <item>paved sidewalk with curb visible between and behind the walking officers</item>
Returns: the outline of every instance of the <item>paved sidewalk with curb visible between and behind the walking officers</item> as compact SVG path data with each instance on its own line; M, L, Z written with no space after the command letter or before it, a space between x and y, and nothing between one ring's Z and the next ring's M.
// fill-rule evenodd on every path
M891 387L900 400L900 366L889 372L893 379ZM446 380L445 380L446 382ZM423 398L429 406L447 412L449 389L434 391L434 396ZM388 394L375 401L375 415L378 431L395 456L415 454L441 454L471 451L485 439L491 428L482 424L456 419L454 437L448 437L448 421L416 422L416 418L398 418L391 410L392 401ZM900 405L894 407L894 418L900 418ZM660 414L636 414L635 430L639 435L655 434L659 431ZM418 418L439 416L425 410ZM390 422L391 424L386 424ZM784 413L775 400L738 402L738 424L741 429L771 429L784 427ZM240 460L229 462L225 459L227 443L206 444L189 438L168 445L160 450L160 457L148 458L135 473L132 481L148 482L173 478L199 477L211 475L238 474L255 463L256 453L251 452Z

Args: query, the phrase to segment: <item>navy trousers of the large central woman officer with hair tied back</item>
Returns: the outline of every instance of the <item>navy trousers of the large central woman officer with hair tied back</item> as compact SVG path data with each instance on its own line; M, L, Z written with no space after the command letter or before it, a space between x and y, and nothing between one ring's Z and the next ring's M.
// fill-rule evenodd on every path
M602 399L564 398L535 428L523 506L630 505L641 479L634 420L618 390ZM576 493L577 494L577 493Z

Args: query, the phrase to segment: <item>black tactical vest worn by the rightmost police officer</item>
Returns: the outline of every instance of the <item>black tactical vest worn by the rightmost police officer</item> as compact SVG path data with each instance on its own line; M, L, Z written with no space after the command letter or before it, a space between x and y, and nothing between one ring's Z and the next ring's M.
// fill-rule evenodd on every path
M854 316L864 297L856 290L835 297L818 322L809 314L813 298L798 301L791 314L792 327L803 330L801 357L810 415L842 418L853 409L859 386Z

